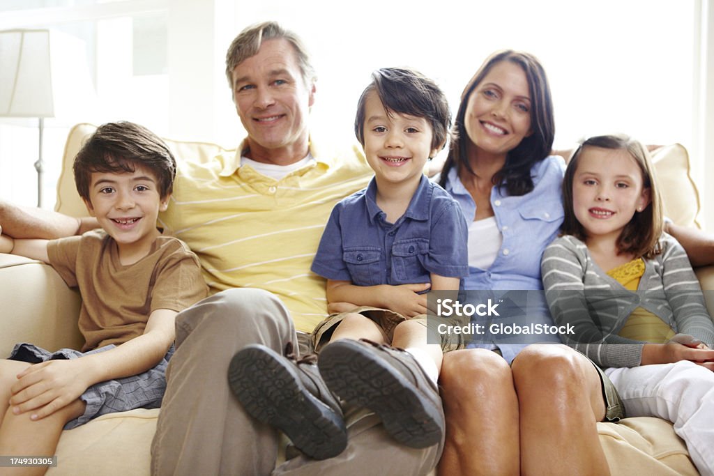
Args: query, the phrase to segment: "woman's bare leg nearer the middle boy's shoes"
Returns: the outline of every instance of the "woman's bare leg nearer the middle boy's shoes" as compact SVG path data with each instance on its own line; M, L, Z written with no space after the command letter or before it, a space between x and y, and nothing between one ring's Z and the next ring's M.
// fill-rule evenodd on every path
M518 475L518 400L506 360L454 350L443 355L439 384L446 443L438 474Z

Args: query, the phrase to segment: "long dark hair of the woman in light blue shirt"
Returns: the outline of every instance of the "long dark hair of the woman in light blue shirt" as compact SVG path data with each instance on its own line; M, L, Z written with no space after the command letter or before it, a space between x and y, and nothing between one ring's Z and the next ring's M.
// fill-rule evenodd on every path
M531 168L535 163L547 157L553 147L553 138L555 137L553 100L550 96L548 77L545 76L545 70L540 61L530 53L510 49L496 51L491 54L464 88L451 133L451 146L449 146L439 185L446 186L448 172L453 167L456 167L457 171L463 167L471 175L475 174L471 164L468 162L467 153L471 142L465 126L468 99L488 72L493 69L493 66L503 61L510 61L520 66L523 72L526 73L528 88L531 93L531 129L533 133L523 138L516 148L508 152L506 164L493 176L493 185L506 188L508 195L511 196L525 195L533 190Z

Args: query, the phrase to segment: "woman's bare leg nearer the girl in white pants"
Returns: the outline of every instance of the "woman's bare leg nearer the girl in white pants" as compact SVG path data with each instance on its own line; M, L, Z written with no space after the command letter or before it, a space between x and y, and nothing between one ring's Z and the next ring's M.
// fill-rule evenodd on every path
M565 345L531 345L513 360L521 415L521 474L609 475L597 422L600 375Z

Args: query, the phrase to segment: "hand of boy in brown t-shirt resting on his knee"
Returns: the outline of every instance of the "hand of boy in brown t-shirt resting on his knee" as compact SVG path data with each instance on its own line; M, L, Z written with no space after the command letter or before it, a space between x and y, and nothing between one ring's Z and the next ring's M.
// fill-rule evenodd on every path
M10 391L10 405L15 415L34 411L31 420L40 420L77 400L89 385L81 358L48 360L31 365L17 375Z

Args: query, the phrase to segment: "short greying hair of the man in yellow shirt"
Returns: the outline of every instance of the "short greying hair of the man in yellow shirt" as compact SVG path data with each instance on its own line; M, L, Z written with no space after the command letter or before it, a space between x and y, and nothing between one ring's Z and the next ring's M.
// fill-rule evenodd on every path
M226 53L226 78L228 86L233 91L233 69L251 56L258 54L263 41L284 39L293 45L298 66L305 85L309 88L317 79L315 69L310 63L310 55L300 37L288 29L284 29L276 21L264 21L243 29L228 47Z

